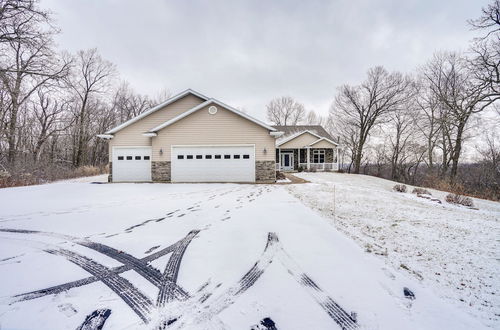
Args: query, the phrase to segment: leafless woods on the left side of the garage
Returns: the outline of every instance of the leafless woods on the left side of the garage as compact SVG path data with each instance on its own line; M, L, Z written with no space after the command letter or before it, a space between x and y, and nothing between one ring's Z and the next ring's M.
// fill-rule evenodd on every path
M168 97L136 93L97 49L58 51L50 12L34 0L0 0L0 181L71 176L107 163L96 134ZM75 173L77 175L78 173Z

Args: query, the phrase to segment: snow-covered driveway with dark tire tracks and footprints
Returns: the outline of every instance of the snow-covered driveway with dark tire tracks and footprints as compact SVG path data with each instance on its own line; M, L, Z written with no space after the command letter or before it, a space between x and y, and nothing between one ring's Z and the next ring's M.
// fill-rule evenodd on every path
M1 329L482 327L285 186L84 181L0 190Z

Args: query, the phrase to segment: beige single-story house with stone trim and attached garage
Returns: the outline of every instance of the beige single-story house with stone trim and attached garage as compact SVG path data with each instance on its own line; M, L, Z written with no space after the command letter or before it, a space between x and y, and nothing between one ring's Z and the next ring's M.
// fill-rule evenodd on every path
M98 137L110 182L275 182L276 170L334 168L337 147L321 126L273 127L191 89Z

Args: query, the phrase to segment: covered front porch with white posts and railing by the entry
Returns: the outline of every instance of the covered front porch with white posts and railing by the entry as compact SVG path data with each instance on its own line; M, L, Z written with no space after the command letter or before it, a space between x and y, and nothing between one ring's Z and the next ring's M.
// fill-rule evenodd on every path
M292 171L337 171L339 169L337 148L277 148L276 170Z

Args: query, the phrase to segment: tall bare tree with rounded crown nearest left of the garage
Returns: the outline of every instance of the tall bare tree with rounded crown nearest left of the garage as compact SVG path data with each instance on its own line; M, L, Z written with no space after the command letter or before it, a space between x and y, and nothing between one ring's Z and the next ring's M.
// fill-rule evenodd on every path
M76 54L75 65L68 76L68 86L75 94L74 152L73 165L84 162L87 143L93 136L88 130L91 120L91 101L94 96L105 93L116 75L115 66L104 60L97 49L81 50Z

